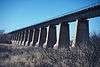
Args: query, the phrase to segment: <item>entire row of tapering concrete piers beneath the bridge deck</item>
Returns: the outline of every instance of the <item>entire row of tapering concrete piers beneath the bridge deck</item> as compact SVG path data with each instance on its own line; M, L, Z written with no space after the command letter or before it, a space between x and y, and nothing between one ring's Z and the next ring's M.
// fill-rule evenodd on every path
M16 45L44 47L44 48L69 48L70 30L69 23L61 22L59 39L57 39L56 24L48 24L47 27L29 27L16 31L11 35L12 43ZM58 41L57 41L58 40ZM82 41L89 40L89 21L87 19L78 19L75 44L79 46Z

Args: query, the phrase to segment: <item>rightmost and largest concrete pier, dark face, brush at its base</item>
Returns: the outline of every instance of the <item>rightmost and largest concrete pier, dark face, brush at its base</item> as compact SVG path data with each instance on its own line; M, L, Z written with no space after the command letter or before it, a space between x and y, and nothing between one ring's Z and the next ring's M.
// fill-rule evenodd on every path
M79 19L77 22L76 45L89 40L89 24L87 19Z

